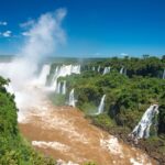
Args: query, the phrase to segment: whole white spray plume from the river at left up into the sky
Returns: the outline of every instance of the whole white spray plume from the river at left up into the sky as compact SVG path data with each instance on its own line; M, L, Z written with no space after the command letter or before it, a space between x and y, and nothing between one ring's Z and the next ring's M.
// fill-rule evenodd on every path
M25 44L16 58L0 67L0 75L11 79L16 106L21 111L36 105L40 99L32 86L45 82L45 75L50 68L45 66L38 78L36 75L38 65L45 56L51 55L59 44L65 42L65 33L61 28L65 15L66 10L59 9L41 15L36 21L33 20L31 25L29 22L22 24L22 28L28 30L23 33Z

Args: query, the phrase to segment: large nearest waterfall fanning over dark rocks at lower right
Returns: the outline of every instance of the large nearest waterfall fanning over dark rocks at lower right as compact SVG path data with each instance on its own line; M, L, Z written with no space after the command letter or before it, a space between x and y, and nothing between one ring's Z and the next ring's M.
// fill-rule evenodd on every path
M152 105L143 114L139 124L131 132L131 136L135 139L147 139L150 136L150 127L152 125L153 118L158 113L158 106Z

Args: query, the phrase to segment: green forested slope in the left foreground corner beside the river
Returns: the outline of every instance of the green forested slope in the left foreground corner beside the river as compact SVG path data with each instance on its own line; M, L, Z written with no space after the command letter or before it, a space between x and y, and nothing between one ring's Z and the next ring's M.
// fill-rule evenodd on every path
M54 165L26 142L19 132L14 96L4 86L9 80L0 77L0 165Z

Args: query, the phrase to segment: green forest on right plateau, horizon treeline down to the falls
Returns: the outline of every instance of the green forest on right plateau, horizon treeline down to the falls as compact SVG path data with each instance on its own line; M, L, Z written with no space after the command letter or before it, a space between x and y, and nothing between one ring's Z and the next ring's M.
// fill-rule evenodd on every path
M94 66L96 72L92 70ZM99 66L100 73L97 72ZM111 72L102 75L106 66L111 66ZM121 67L127 69L127 75L119 74ZM78 100L76 106L86 114L91 112L95 114L101 97L106 95L105 113L108 114L109 120L130 130L138 124L151 103L158 103L161 108L157 120L161 134L165 133L165 105L163 103L165 80L162 79L164 68L164 59L150 56L145 58L114 57L87 63L82 66L81 75L65 77L67 92L75 88ZM107 117L105 118L105 125L107 125ZM103 120L96 119L97 123L100 122L103 125Z

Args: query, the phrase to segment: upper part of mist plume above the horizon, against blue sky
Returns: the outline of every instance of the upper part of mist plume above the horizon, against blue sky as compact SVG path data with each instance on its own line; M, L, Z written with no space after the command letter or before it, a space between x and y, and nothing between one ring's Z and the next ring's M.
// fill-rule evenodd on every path
M21 54L34 61L56 51L58 44L66 42L66 34L61 25L65 15L66 10L59 9L42 14L38 20L23 23L23 28L29 28L22 33L25 45Z

